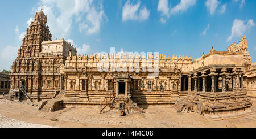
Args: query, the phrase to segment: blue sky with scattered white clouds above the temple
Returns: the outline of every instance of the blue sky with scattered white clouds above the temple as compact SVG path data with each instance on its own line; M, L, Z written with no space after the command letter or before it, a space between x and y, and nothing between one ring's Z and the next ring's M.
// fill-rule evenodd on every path
M254 0L2 1L0 71L11 68L28 23L42 4L52 40L64 37L80 54L115 47L199 58L211 46L226 51L245 34L256 60Z

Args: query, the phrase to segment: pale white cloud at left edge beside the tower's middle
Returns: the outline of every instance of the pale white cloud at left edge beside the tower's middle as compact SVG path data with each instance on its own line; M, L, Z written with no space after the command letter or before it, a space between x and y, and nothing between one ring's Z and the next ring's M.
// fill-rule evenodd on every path
M6 69L9 71L14 59L17 57L19 47L6 46L0 49L0 71Z

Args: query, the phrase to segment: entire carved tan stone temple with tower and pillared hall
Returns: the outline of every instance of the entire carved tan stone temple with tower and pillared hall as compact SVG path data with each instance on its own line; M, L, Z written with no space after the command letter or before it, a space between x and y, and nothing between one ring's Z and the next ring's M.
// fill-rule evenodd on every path
M10 73L9 99L42 101L41 110L90 106L102 112L174 106L225 118L250 112L255 63L247 40L213 47L200 58L150 54L84 54L63 39L51 41L47 16L36 13ZM97 108L98 107L98 108Z

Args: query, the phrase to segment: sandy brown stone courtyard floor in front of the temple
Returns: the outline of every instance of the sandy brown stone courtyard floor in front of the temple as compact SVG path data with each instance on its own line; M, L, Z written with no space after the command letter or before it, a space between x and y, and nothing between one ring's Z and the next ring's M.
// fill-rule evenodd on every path
M256 127L256 100L246 116L209 120L197 113L178 114L173 108L149 107L144 114L99 114L99 108L64 108L55 112L38 110L38 104L0 99L0 128L5 127Z

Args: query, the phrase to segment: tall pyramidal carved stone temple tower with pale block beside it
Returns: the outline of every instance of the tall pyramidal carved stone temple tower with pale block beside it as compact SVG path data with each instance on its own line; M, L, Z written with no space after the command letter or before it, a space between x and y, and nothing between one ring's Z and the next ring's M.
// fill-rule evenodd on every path
M76 49L63 39L52 41L43 9L26 30L11 67L10 92L16 99L51 99L60 89L60 67ZM43 45L45 44L45 45Z

